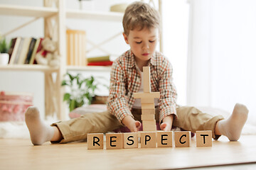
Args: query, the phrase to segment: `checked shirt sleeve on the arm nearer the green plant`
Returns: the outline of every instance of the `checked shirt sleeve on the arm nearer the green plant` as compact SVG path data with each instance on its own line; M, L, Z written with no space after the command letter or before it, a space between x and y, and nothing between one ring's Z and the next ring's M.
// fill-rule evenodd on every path
M121 64L118 61L115 61L110 73L110 96L107 99L107 109L117 117L120 123L127 115L134 118L129 110L129 105L125 96L126 88L124 75Z

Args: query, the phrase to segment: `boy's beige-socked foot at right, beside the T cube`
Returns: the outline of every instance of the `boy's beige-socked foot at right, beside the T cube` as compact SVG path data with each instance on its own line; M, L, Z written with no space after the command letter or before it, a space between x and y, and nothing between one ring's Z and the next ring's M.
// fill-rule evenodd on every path
M216 126L220 135L225 135L230 141L237 141L247 120L248 112L246 106L236 103L230 118L218 121Z

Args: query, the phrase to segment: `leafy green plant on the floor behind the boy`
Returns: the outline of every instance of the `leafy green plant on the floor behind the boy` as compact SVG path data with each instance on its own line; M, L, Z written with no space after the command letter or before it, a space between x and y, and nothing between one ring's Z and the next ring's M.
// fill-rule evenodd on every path
M86 103L90 105L92 97L95 96L95 89L98 89L100 85L106 86L96 81L95 77L91 76L85 79L81 74L73 76L67 73L65 74L65 80L63 80L61 86L67 86L69 92L64 94L63 101L68 102L70 111Z

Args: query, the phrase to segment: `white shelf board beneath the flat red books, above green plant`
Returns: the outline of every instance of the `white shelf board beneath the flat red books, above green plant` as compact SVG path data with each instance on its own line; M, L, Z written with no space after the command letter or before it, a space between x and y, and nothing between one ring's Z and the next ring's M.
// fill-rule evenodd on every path
M110 72L111 67L107 66L67 66L68 71L92 71L92 72Z

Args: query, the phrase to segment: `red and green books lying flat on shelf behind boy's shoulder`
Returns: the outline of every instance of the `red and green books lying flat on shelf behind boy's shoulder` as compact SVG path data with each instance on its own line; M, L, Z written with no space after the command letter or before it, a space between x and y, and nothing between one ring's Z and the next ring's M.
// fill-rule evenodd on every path
M111 66L112 64L113 64L113 62L110 61L110 55L87 58L88 66Z

